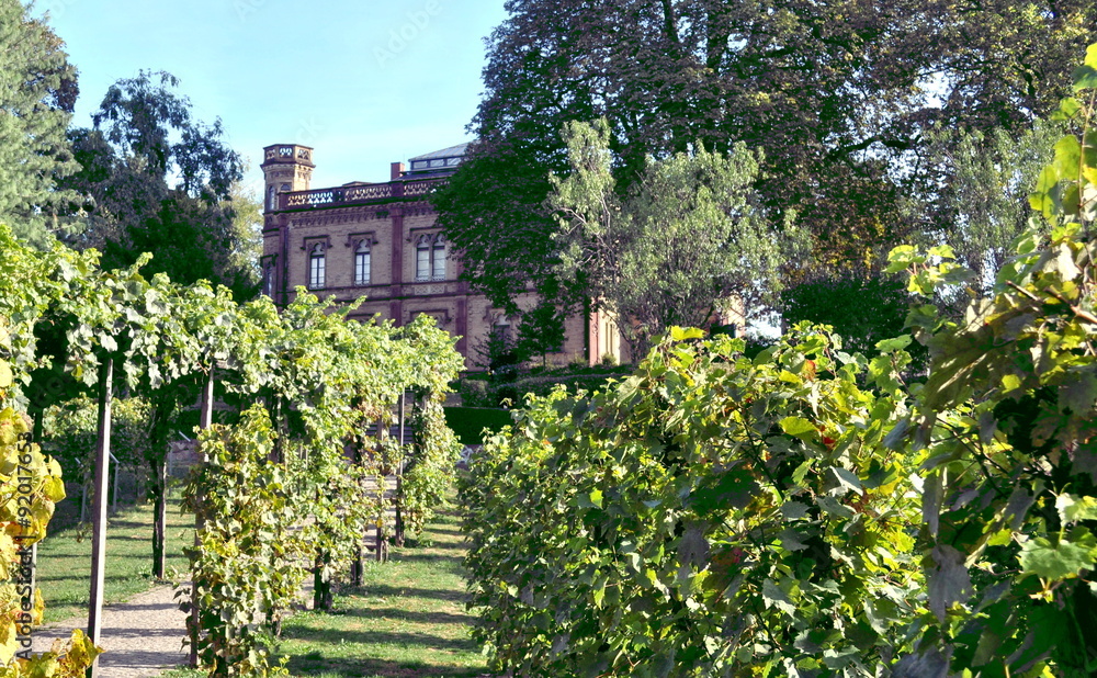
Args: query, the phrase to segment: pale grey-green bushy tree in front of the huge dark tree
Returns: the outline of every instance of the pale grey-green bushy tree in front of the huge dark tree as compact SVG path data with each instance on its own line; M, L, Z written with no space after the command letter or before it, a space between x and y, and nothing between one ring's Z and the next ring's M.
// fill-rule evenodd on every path
M799 244L767 218L755 156L738 145L726 157L699 148L652 159L622 197L609 134L606 120L565 126L572 173L551 178L548 205L562 224L561 275L617 316L632 355L676 325L771 305Z

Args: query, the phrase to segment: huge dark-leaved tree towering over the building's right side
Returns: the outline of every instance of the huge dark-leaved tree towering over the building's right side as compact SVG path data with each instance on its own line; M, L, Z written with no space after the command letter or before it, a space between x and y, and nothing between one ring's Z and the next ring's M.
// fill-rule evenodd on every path
M768 211L795 212L815 268L879 269L938 199L928 131L1027 128L1070 88L1097 3L511 0L488 41L478 142L437 204L465 276L499 297L551 289L557 131L606 116L618 185L700 140L765 151ZM791 269L811 262L793 262ZM793 271L795 272L795 271ZM562 286L569 298L581 290Z

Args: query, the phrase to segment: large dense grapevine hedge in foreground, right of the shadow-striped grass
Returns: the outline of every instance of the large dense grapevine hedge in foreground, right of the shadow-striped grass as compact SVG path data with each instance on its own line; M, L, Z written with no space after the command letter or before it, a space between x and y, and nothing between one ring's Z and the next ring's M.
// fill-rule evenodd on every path
M924 611L898 346L807 325L755 359L675 329L531 398L462 485L477 636L531 676L874 675ZM871 376L883 395L861 388Z

